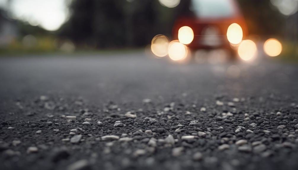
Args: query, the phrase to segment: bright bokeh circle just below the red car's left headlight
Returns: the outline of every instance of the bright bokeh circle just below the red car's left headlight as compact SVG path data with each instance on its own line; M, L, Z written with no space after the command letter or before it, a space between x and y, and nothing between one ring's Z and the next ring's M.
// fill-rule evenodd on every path
M173 40L169 44L169 57L174 61L185 59L187 51L186 45L180 43L178 40Z

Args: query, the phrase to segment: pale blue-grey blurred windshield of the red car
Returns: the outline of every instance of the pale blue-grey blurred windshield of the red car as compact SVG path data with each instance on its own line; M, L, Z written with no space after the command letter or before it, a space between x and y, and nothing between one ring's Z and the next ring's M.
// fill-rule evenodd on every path
M230 0L192 0L190 9L197 17L230 17L235 13Z

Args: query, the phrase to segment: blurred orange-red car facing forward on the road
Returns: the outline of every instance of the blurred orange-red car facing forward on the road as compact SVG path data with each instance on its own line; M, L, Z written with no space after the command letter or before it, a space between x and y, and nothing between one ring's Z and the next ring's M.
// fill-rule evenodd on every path
M246 22L235 0L183 0L180 5L189 12L179 14L172 36L178 39L178 30L189 26L194 33L193 41L187 45L190 48L231 50L226 33L232 23L241 26L243 37L248 34Z

